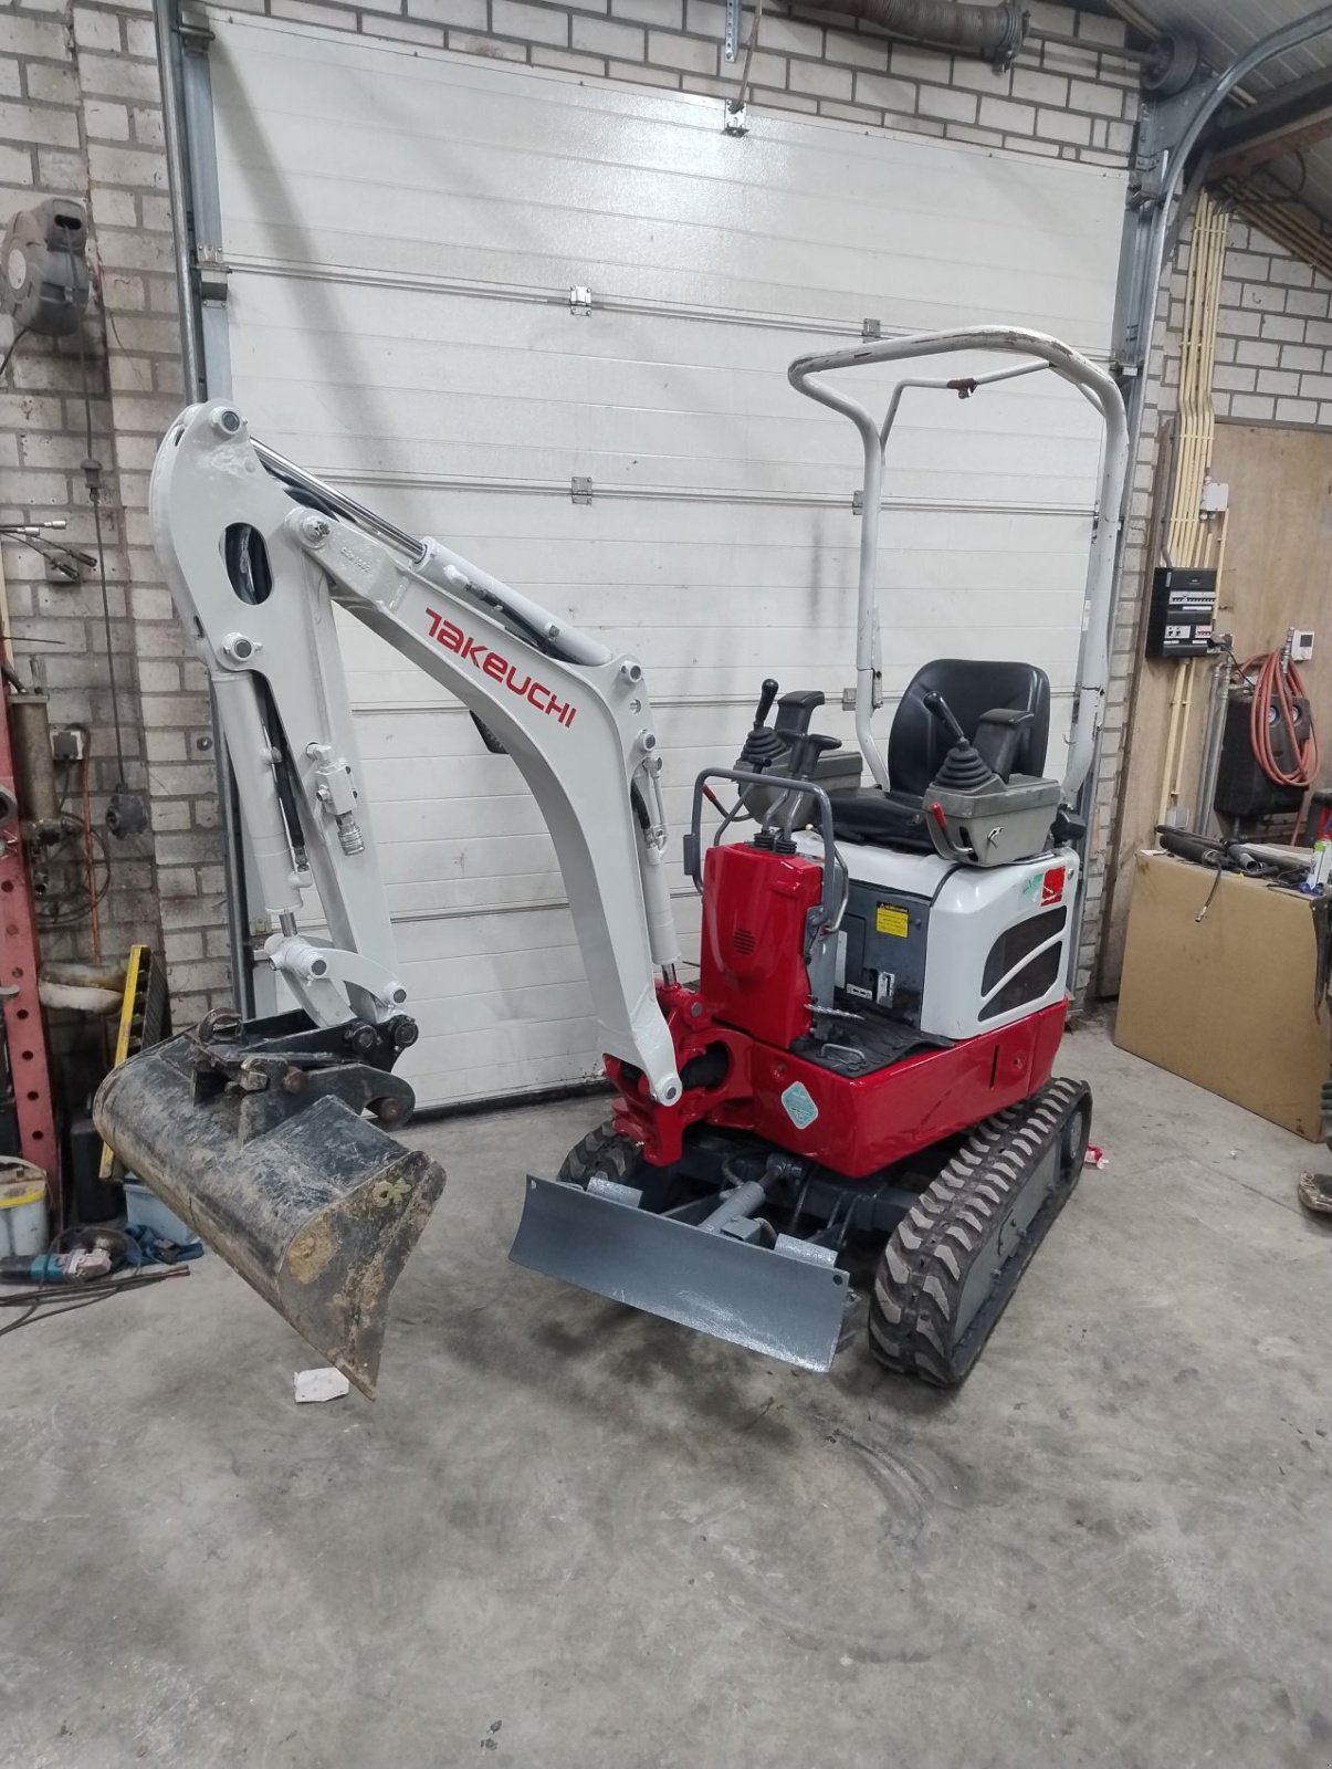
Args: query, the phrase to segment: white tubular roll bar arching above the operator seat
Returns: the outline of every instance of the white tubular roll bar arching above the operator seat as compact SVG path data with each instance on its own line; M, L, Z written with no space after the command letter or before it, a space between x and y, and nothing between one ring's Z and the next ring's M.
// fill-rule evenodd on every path
M876 423L865 407L830 387L814 375L838 368L867 368L872 363L902 363L920 356L946 356L955 350L1003 350L1037 357L1019 368L1001 368L987 375L966 375L959 380L902 380L893 387L883 423ZM1045 333L1022 325L975 325L966 331L913 333L907 338L881 338L853 350L828 350L823 356L801 356L787 370L787 380L798 393L849 417L860 432L865 448L865 486L860 513L860 591L856 601L856 741L865 764L886 791L888 766L874 739L874 690L879 674L879 515L883 506L883 458L906 387L952 387L971 391L994 380L1012 380L1017 375L1054 370L1100 412L1106 426L1106 448L1100 469L1100 497L1091 529L1086 594L1083 603L1083 637L1077 649L1077 699L1074 727L1068 739L1068 766L1063 775L1063 798L1072 803L1091 766L1097 731L1109 678L1111 621L1114 616L1114 543L1120 529L1123 483L1129 472L1129 425L1123 398L1104 368L1097 368L1077 350Z

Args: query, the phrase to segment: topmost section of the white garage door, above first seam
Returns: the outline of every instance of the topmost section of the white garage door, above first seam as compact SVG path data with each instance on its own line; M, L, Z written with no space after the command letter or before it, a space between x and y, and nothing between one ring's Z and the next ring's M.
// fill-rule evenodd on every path
M1021 156L900 140L893 225L867 232L865 205L884 200L883 140L854 127L759 113L738 150L716 101L373 55L366 103L364 44L299 27L226 28L214 94L233 172L230 253L292 257L306 234L324 262L437 274L446 246L449 274L479 281L600 281L782 313L828 311L837 295L831 311L886 324L913 324L920 302L971 318L978 302L1030 311L1035 295L1065 329L1079 310L1086 331L1074 327L1074 341L1104 331L1086 265L1107 287L1118 239L1088 200L1121 182L1106 168L1070 165L1053 179ZM984 288L946 276L959 211ZM792 253L792 239L814 249ZM865 308L867 297L881 306Z

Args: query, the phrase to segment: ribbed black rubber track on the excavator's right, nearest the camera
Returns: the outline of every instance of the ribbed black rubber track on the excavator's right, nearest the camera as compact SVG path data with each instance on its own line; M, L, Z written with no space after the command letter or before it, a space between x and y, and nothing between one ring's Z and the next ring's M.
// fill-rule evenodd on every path
M985 1252L989 1229L1003 1222L1026 1178L1083 1100L1090 1100L1086 1083L1051 1081L1030 1100L980 1123L920 1194L893 1229L874 1279L869 1339L881 1364L938 1387L955 1387L966 1376L1077 1175L1058 1175L1051 1192L1056 1208L1044 1224L1033 1222L1040 1233L1019 1249L1015 1270L1005 1268L1007 1293L980 1341L959 1362L953 1320L966 1281Z

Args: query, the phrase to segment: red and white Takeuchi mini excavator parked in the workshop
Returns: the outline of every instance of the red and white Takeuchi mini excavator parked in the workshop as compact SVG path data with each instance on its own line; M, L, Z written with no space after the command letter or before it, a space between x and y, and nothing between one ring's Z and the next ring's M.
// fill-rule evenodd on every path
M824 379L948 352L1015 361L900 380L881 421ZM876 564L899 403L1049 371L1106 430L1063 778L1045 773L1049 681L1017 662L929 663L884 750ZM393 1068L417 1028L334 603L513 757L563 870L614 1106L552 1159L554 1178L527 1178L515 1261L808 1369L831 1364L869 1291L874 1357L948 1385L1077 1182L1091 1097L1051 1072L1076 805L1106 688L1123 403L1076 350L998 325L807 356L789 380L863 444L858 754L814 729L821 693L762 683L736 764L693 789L697 982L681 976L663 759L635 658L283 460L226 403L182 412L161 444L154 540L212 678L272 925L264 952L297 1007L211 1014L113 1070L94 1116L366 1394L444 1173L391 1136L414 1106ZM301 929L311 888L327 938Z

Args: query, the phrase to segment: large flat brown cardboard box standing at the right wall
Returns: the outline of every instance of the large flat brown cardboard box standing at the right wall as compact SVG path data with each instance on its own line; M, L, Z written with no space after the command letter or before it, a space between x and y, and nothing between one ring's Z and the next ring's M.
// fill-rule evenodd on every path
M1198 920L1212 886L1212 906ZM1321 1137L1332 1068L1318 918L1298 892L1139 853L1114 1042L1272 1123Z

